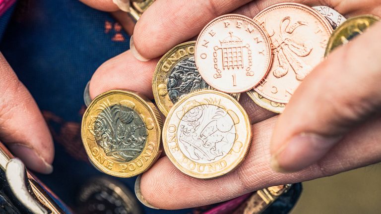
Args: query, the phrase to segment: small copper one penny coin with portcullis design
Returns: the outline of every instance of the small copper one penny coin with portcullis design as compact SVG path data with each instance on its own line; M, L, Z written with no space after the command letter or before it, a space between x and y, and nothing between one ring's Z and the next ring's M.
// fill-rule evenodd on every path
M266 32L246 16L217 17L197 38L197 69L211 87L222 92L252 89L266 75L271 60L271 43Z

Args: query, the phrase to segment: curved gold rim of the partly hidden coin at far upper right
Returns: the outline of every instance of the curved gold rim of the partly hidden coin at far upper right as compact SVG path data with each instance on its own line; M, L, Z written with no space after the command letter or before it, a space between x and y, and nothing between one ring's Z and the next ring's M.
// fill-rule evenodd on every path
M346 29L348 27L348 25L352 24L351 23L352 21L356 21L357 19L368 19L370 21L373 21L373 23L371 25L373 25L373 24L375 24L381 20L380 17L375 16L375 15L371 15L371 14L358 15L358 16L348 18L345 22L343 22L341 25L339 25L333 31L331 36L329 37L328 44L327 44L327 47L325 49L324 57L327 57L332 51L335 50L335 49L332 50L332 46L333 46L334 41L336 40L336 37L341 33L341 31Z

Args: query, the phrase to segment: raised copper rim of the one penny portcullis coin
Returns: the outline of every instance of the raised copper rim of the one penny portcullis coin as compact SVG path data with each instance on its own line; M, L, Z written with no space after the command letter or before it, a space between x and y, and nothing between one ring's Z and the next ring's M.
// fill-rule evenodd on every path
M221 89L220 87L216 87L214 84L210 84L210 82L208 82L204 76L202 75L202 73L205 73L204 71L202 71L199 66L198 66L198 63L197 63L197 46L198 46L198 42L201 38L201 35L202 33L210 26L213 24L213 22L217 21L218 19L221 19L221 18L227 18L227 17L240 17L240 18L243 18L243 19L246 19L248 22L251 22L255 27L256 29L259 31L260 34L262 34L263 36L263 39L267 41L267 51L268 51L268 55L269 55L269 59L268 59L268 63L267 63L267 66L266 66L266 71L263 73L263 76L260 78L260 80L253 84L252 86L248 87L248 89L245 89L245 90L242 90L242 91L234 91L234 90L223 90ZM211 86L212 88L215 88L217 89L218 91L221 91L221 92L225 92L225 93L228 93L228 94L238 94L238 93L243 93L243 92L247 92L251 89L253 89L255 86L257 86L260 81L262 81L262 79L267 76L267 73L269 72L270 68L271 68L271 65L272 65L272 60L273 60L273 52L272 52L272 43L271 43L271 40L268 36L268 33L267 31L262 27L260 26L260 24L258 22L256 22L254 19L251 19L250 17L248 16L244 16L244 15L241 15L241 14L235 14L235 13L230 13L230 14L225 14L225 15L221 15L221 16L218 16L217 18L214 18L213 20L211 20L208 24L205 25L205 27L200 31L200 33L198 34L198 37L197 37L197 40L196 40L196 44L195 44L195 47L194 47L194 59L195 59L195 62L196 62L196 67L197 67L197 70L198 72L200 73L202 79L209 85ZM207 73L207 71L206 71Z

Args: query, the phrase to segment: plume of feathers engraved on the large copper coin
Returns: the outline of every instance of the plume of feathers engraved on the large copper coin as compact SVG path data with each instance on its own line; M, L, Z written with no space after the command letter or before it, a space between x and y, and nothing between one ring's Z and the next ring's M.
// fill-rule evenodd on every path
M292 23L290 17L285 17L279 24L278 38L272 40L274 55L279 63L279 67L273 71L276 78L285 76L291 69L295 72L296 79L303 81L312 70L311 66L307 65L301 58L311 53L313 49L312 42L307 40L298 43L292 38L293 32L301 26L308 26L308 22L295 21Z

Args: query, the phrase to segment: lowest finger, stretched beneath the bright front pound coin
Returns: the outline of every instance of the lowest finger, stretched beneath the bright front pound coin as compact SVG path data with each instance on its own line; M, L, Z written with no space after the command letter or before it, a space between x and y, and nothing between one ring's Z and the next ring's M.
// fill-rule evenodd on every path
M183 209L229 200L269 186L329 176L381 160L379 118L350 133L318 163L295 173L275 172L269 164L269 141L275 122L273 117L253 125L250 152L235 171L217 179L201 180L183 174L164 157L142 174L140 192L136 195L142 196L149 206Z

